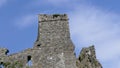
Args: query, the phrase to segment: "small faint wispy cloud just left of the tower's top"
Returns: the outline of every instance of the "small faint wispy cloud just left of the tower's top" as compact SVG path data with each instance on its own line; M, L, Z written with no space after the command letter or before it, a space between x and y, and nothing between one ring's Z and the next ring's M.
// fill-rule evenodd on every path
M17 18L15 20L15 26L19 27L19 28L25 28L28 26L33 25L34 23L36 23L37 17L34 15L26 15L26 16L22 16L21 18Z

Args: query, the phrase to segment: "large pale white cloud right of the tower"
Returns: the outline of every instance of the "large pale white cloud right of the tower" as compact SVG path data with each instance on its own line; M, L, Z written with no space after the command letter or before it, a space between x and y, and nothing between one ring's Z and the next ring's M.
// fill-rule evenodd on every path
M96 47L101 62L120 60L120 15L95 7L77 6L70 13L71 35L76 51L81 47ZM119 60L118 60L119 59ZM107 63L108 64L108 63ZM105 64L104 64L105 65ZM118 64L115 64L118 66ZM112 68L112 67L111 67ZM113 68L120 68L113 67Z

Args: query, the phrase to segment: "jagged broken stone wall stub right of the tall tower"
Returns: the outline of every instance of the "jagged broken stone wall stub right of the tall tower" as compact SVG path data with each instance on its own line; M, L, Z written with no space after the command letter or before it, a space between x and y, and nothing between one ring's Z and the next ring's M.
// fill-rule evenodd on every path
M102 68L96 59L94 46L83 48L76 64L78 68Z

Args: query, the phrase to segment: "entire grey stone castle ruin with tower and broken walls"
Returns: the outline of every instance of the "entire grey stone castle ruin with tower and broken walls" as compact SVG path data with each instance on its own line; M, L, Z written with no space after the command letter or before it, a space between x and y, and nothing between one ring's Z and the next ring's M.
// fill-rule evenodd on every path
M33 48L11 55L0 48L0 68L102 68L94 46L83 48L76 58L66 14L41 14L38 20Z

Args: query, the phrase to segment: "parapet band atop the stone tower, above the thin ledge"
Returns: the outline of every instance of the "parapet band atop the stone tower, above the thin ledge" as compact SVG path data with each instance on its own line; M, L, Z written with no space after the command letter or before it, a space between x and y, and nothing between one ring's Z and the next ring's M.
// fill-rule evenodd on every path
M53 14L53 15L39 14L40 22L57 20L68 20L68 16L66 14Z

